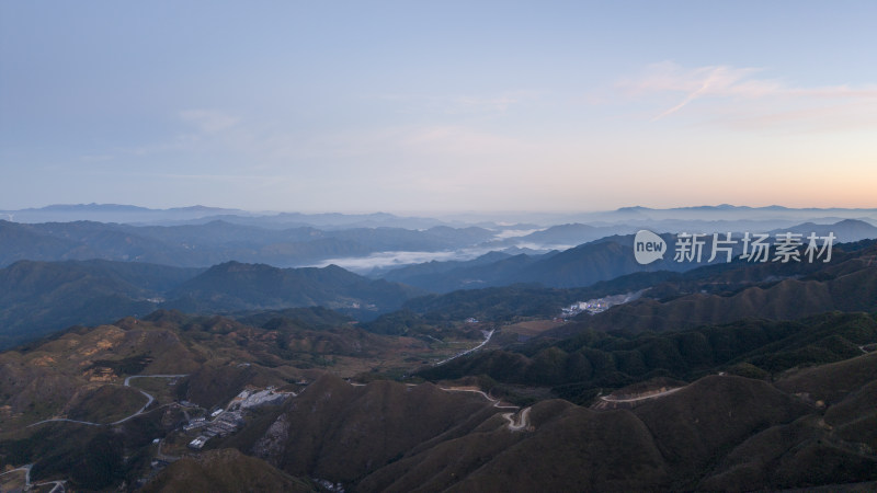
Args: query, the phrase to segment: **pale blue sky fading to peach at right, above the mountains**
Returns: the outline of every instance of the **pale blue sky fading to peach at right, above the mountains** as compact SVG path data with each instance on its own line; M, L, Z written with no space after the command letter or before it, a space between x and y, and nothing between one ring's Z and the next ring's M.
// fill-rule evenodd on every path
M875 1L0 2L0 209L877 207Z

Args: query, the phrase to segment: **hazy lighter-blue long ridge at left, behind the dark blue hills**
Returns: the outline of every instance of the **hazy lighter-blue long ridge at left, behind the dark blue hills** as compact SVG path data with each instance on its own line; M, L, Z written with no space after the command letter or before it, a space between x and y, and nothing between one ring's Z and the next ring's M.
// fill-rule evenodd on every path
M280 266L365 256L385 251L462 249L494 233L478 227L434 226L320 230L310 226L272 229L214 220L181 226L133 226L94 221L18 223L0 220L0 266L19 260L102 259L181 267L239 261Z

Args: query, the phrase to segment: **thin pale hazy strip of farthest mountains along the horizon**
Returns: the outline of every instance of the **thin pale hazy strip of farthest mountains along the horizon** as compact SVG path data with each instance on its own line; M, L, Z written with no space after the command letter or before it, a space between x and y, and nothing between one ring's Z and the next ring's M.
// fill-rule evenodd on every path
M791 226L815 222L835 223L845 219L877 225L877 208L788 208L772 205L716 204L677 208L626 206L611 210L468 210L468 211L301 211L246 210L189 205L170 208L147 208L136 204L52 204L37 208L0 209L0 220L24 223L99 221L135 226L183 226L206 223L217 219L231 223L269 229L303 225L318 228L397 227L425 230L435 226L464 228L480 226L497 231L498 238L524 234L550 226L588 225L588 227L625 226L649 228L683 227L755 227L758 225ZM745 225L745 226L744 226ZM555 245L557 246L557 245ZM567 246L572 246L567 245ZM539 246L531 246L539 249Z

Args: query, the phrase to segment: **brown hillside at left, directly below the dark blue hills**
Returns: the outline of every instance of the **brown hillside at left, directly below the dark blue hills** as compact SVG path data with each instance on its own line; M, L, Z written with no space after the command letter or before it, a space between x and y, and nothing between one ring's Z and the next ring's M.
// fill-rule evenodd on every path
M273 317L264 326L253 326L224 317L157 311L110 325L73 328L0 353L0 432L49 417L92 416L84 421L100 423L104 421L96 417L121 417L134 402L144 403L136 392L118 389L132 375L189 375L174 389L159 392L159 404L179 398L213 408L248 383L280 387L318 368L344 377L373 368L410 368L411 360L444 358L456 351L445 342L378 335L348 319L339 321L341 325L332 326ZM167 382L160 385L167 388ZM117 405L101 409L100 403Z

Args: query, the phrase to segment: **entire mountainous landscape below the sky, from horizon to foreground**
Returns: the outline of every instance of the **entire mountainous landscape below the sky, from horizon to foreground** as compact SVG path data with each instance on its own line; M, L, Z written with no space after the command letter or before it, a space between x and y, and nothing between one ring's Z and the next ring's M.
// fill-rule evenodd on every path
M0 220L0 460L34 465L38 481L877 481L873 209L634 207L554 223L101 205L9 216L53 219ZM637 261L639 229L665 242L661 259ZM699 261L674 259L683 232L704 234ZM709 262L713 233L728 232L731 260ZM800 259L740 257L747 232L774 252L799 234ZM830 261L807 261L810 233L832 238ZM254 393L272 403L230 411Z

